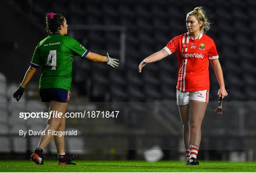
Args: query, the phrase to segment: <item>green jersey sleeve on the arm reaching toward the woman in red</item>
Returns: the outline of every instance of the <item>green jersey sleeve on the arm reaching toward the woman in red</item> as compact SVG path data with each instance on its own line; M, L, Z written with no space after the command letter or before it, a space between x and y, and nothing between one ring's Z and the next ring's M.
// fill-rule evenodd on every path
M67 37L67 38L68 40L67 42L65 42L65 44L68 46L68 48L71 49L75 55L85 58L86 55L89 53L89 50L83 47L82 44L80 44L77 40L71 37Z

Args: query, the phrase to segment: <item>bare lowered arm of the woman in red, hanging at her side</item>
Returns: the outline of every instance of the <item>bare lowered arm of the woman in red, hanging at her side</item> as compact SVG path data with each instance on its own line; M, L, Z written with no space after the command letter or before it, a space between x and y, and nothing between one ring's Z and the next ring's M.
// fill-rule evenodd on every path
M221 65L219 63L219 59L210 60L210 62L214 69L217 80L219 82L219 97L224 98L225 96L228 95L228 93L225 89L224 78L223 78Z

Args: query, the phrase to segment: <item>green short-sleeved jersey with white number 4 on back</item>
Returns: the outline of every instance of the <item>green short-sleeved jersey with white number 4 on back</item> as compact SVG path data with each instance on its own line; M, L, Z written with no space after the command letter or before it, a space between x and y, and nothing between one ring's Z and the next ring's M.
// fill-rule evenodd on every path
M47 36L36 47L30 66L39 68L42 74L39 88L62 88L71 90L72 62L75 55L85 58L89 53L75 39L54 34Z

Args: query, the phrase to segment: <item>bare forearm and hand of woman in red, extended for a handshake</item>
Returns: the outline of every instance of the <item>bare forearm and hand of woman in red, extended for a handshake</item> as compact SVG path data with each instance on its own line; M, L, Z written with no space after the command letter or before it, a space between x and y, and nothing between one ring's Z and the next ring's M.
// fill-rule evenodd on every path
M168 56L168 52L165 51L165 49L162 49L161 51L155 52L152 55L146 57L143 61L139 64L139 72L141 73L141 69L146 65L146 63L152 63L155 61L160 61L163 58Z

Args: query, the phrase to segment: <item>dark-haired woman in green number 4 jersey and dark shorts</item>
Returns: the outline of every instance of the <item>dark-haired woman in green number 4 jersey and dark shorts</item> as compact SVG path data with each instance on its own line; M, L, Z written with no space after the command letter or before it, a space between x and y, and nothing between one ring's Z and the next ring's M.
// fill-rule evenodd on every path
M30 66L24 76L18 90L13 94L17 101L23 95L25 87L34 76L37 69L42 66L42 74L39 80L39 92L42 102L46 104L49 112L57 111L65 114L71 91L72 61L75 55L95 62L106 62L113 68L119 66L118 59L112 59L108 53L101 56L89 52L75 39L67 35L67 22L63 15L46 14L46 30L49 36L38 43ZM42 135L31 160L36 164L44 164L42 154L52 138L58 152L59 164L74 164L65 156L64 135L53 135L51 131L65 130L65 116L63 118L51 117L47 122L45 135Z

